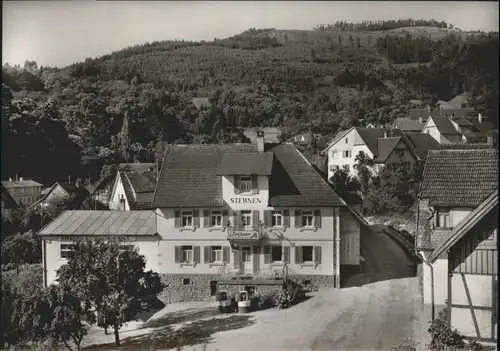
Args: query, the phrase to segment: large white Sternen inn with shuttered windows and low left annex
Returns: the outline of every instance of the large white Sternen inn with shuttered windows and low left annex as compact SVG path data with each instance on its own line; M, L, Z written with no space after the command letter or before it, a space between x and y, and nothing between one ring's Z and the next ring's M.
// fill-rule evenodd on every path
M276 275L339 287L342 269L359 267L365 222L293 145L256 141L168 146L154 211L63 213L39 233L46 284L75 235L108 234L129 236L169 301L264 291L281 286Z

